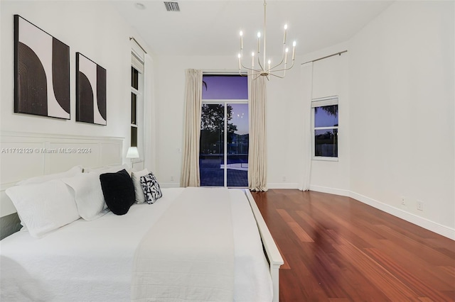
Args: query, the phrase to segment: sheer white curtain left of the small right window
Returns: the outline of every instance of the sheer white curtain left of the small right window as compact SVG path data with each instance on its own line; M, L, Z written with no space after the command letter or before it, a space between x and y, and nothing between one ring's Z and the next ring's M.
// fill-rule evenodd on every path
M301 181L299 189L308 191L310 189L311 177L311 98L313 93L313 62L301 65L301 95L303 101L302 109L302 135L301 140L303 152L301 157Z

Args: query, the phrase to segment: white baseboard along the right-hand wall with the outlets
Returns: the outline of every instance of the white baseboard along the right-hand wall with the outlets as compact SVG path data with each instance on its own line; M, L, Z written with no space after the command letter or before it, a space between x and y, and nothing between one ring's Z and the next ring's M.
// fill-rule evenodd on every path
M432 232L442 235L444 237L448 237L451 240L455 240L455 228L450 228L446 225L435 223L434 221L428 220L427 218L416 216L407 211L403 211L400 208L395 208L394 206L390 206L386 203L382 203L373 198L369 198L367 196L363 196L352 191L350 191L350 198L354 198L355 200L366 203L369 206L373 206L373 208L378 208L379 210L384 211L385 213L389 213L390 215L406 220L407 222L414 223L414 225L419 225L419 227L431 230Z

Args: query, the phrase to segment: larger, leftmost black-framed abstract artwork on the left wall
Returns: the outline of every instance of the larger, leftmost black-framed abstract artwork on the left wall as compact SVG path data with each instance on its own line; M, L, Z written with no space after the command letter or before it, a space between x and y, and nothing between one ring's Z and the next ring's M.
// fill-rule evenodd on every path
M69 120L70 47L14 15L14 112Z

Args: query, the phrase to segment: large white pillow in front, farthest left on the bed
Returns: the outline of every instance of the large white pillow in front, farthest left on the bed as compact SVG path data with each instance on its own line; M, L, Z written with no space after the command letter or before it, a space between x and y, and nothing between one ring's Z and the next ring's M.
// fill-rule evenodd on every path
M41 238L80 218L70 188L60 179L6 189L30 235Z

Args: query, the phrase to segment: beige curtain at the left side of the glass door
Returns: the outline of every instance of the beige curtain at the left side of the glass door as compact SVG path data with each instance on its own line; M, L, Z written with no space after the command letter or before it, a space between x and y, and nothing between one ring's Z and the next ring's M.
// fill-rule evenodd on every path
M202 107L202 70L186 70L185 121L183 124L180 186L200 186L199 140Z

